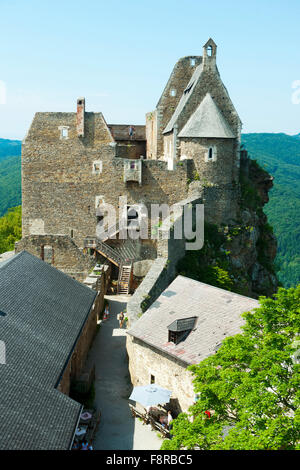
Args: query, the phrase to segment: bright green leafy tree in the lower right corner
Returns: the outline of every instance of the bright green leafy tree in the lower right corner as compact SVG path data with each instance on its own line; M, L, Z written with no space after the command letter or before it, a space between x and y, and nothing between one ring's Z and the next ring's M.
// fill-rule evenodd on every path
M260 304L243 314L241 334L189 367L199 400L162 449L300 449L300 285Z

